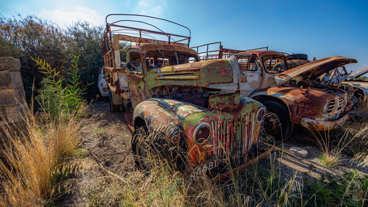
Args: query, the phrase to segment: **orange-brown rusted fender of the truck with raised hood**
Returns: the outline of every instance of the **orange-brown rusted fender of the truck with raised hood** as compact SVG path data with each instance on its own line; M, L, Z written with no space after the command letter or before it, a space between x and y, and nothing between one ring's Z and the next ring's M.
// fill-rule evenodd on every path
M323 105L334 99L326 92L318 90L300 89L295 87L270 87L263 88L251 96L261 101L267 100L267 96L275 97L284 102L290 112L290 121L300 124L302 118L315 119L322 117Z

